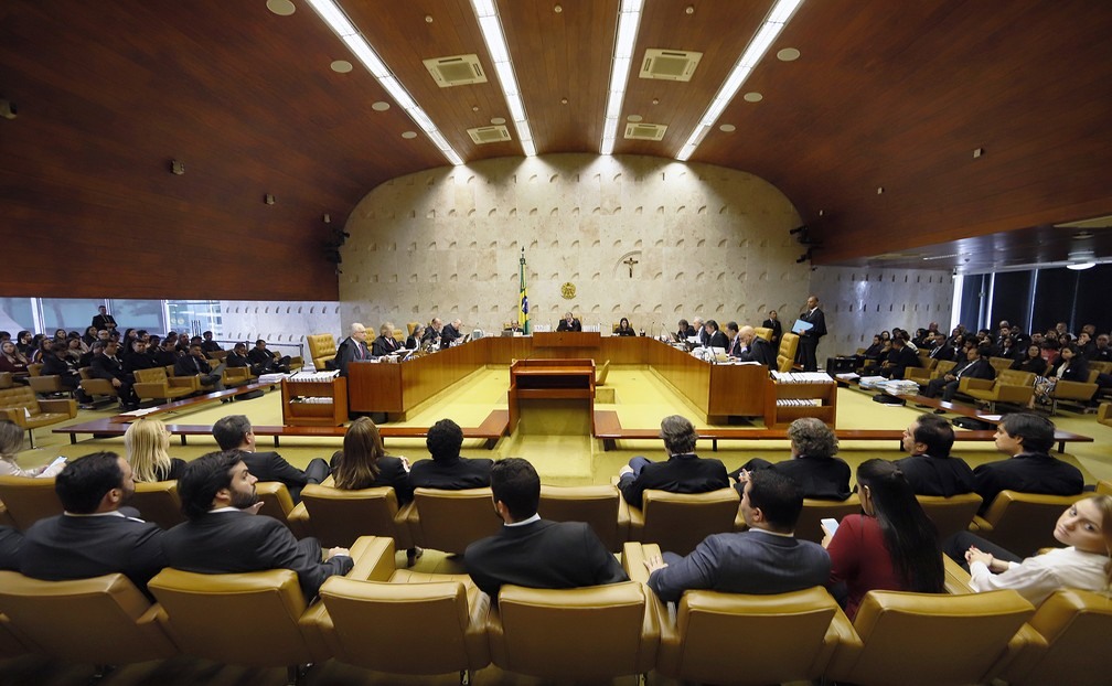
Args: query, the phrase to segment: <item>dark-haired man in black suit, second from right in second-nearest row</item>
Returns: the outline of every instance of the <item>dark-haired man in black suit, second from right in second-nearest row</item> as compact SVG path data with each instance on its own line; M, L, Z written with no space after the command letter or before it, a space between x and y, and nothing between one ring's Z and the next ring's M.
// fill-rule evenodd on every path
M936 415L920 415L903 436L910 457L897 459L912 489L921 496L943 496L973 491L973 470L960 457L951 457L954 427Z

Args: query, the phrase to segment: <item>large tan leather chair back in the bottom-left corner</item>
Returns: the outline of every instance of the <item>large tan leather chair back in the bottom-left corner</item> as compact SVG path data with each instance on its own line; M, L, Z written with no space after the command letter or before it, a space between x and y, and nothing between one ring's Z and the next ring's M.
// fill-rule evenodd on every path
M0 607L28 648L59 659L123 665L178 653L160 607L122 574L40 581L0 571Z

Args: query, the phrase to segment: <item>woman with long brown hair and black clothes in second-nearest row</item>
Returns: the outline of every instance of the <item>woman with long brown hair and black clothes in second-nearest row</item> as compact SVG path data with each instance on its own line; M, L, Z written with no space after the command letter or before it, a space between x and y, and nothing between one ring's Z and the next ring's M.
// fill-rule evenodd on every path
M414 485L409 480L409 463L404 457L391 457L383 447L383 437L370 417L359 417L344 435L344 448L332 455L332 481L340 490L359 490L390 486L398 506L414 499ZM420 548L406 550L413 566L420 557Z

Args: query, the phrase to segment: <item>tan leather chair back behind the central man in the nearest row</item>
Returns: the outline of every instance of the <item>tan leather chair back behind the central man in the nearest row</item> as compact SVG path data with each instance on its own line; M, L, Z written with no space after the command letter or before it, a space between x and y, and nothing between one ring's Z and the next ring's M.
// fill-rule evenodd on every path
M492 662L546 679L645 674L661 639L649 594L637 581L558 590L503 586L487 617Z

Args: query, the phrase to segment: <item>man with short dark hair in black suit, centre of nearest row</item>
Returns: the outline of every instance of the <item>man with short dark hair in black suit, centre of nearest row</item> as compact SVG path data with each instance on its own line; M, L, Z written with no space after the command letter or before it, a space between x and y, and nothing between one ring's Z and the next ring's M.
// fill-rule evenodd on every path
M505 526L498 535L467 546L464 565L494 603L504 584L577 588L628 580L589 526L547 521L537 515L540 477L528 461L510 457L495 463L490 490Z

